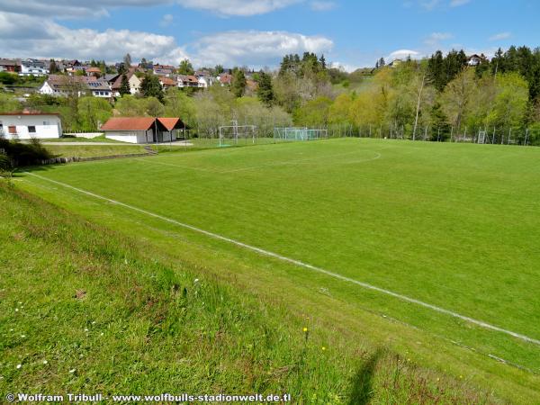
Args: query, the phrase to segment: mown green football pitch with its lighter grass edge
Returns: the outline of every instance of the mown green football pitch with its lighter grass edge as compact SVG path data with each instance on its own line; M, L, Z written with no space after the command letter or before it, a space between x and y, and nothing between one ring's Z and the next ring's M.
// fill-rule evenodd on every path
M537 402L536 343L351 280L540 339L539 159L536 148L334 139L47 166L14 184L329 333Z

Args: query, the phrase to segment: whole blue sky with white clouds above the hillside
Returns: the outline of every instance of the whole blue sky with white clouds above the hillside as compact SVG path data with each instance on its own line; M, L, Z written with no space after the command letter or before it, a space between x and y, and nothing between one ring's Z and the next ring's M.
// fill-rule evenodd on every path
M146 57L197 66L275 67L324 53L347 70L377 58L540 46L540 1L0 0L0 56Z

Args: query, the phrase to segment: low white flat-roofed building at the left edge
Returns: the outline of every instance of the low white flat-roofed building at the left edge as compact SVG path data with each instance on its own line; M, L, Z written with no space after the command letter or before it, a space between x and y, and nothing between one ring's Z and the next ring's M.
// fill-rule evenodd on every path
M62 121L51 112L0 112L0 135L6 139L60 138Z

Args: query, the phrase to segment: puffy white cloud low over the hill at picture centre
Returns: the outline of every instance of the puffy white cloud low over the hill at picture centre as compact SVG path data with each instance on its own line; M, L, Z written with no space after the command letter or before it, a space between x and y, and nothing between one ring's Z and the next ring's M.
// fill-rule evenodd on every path
M274 66L285 54L328 52L332 46L332 40L325 37L286 31L226 31L198 40L193 62L198 66Z

